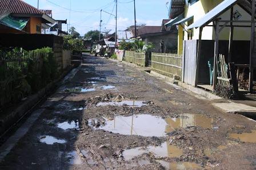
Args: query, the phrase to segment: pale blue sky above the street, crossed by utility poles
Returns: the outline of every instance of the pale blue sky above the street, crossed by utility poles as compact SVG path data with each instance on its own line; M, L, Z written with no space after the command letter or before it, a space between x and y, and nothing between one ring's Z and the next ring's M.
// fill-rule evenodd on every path
M125 30L134 24L132 0L118 0L118 30ZM166 2L170 0L136 0L137 23L147 26L161 26L162 19L167 19ZM25 0L37 7L37 0ZM39 9L53 10L54 19L67 19L71 26L84 35L90 30L99 30L100 10L115 14L114 0L39 0ZM70 20L69 20L70 18ZM115 19L107 13L102 13L102 30L115 30ZM63 25L67 30L67 25Z

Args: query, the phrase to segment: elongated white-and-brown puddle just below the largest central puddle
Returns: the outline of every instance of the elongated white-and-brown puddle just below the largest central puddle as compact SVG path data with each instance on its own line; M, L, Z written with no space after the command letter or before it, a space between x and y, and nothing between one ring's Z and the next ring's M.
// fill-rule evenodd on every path
M123 151L123 157L125 160L133 159L135 156L139 156L142 154L147 154L151 152L156 157L179 157L182 155L182 150L178 147L175 147L171 144L167 144L167 142L162 143L161 146L149 146L147 148L133 148L130 150Z

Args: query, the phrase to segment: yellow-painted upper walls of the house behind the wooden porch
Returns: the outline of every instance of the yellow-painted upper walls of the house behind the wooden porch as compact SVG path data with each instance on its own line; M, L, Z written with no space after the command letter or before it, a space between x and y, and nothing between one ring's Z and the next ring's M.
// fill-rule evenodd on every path
M167 23L167 25L177 26L178 27L178 53L182 55L183 51L183 40L198 40L199 39L199 28L193 28L186 30L190 24L193 24L195 21L202 18L203 15L208 13L210 10L214 9L219 3L223 0L173 0L170 7L170 17L172 22ZM177 6L183 7L177 11ZM176 15L175 15L176 14ZM179 14L177 16L177 14ZM183 18L178 19L173 18ZM182 16L182 17L181 17ZM239 5L234 6L234 16L237 16L237 20L250 20L251 15L249 15L245 10L242 9ZM227 10L221 15L222 20L230 20L230 10ZM179 23L181 21L181 23ZM244 23L237 23L237 25ZM209 25L213 25L210 23ZM250 26L250 24L248 24ZM230 28L225 27L220 32L219 40L229 40ZM213 27L205 27L202 32L203 40L214 40L215 33ZM245 27L235 27L234 28L234 39L233 40L250 40L250 28Z

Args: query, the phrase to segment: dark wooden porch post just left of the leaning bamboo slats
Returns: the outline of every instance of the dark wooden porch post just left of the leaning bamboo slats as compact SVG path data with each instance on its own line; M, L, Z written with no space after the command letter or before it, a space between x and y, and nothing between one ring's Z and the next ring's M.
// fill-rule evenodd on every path
M216 89L218 83L218 56L219 56L219 21L216 20L215 23L215 52L214 52L214 73L213 73L213 89Z

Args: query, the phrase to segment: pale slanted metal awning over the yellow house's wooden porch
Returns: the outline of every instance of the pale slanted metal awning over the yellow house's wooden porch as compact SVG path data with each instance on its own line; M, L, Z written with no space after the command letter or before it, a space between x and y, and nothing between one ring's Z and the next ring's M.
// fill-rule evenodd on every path
M238 0L225 0L222 3L219 3L219 5L217 5L214 9L212 9L209 13L205 14L201 19L195 21L186 29L188 30L191 28L207 26L207 24L209 24L210 22L213 22L214 18L225 13L225 11L229 10L229 8L237 2Z

